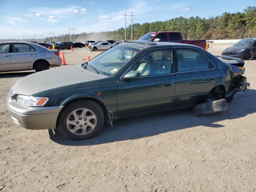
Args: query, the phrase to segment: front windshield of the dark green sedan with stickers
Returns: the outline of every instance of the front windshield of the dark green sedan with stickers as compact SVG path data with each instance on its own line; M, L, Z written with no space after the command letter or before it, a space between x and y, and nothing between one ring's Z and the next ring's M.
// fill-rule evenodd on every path
M99 74L113 76L128 63L140 49L128 46L114 46L88 62L86 69L97 71ZM96 70L95 70L96 69Z

